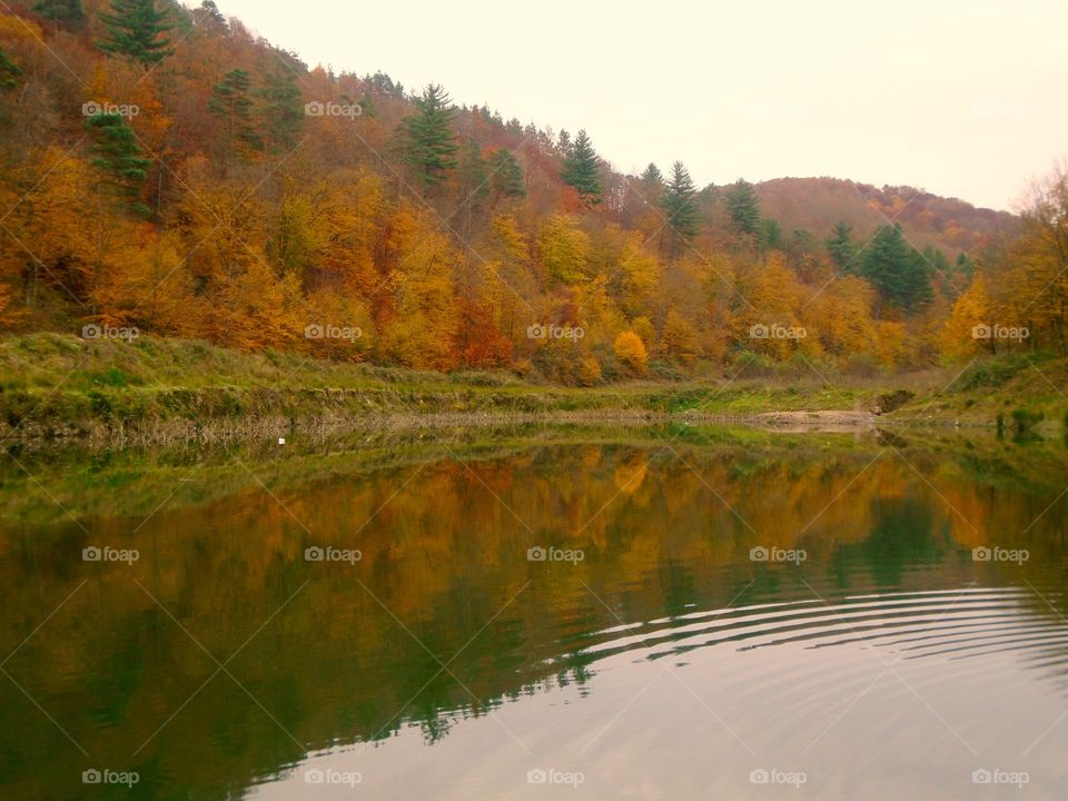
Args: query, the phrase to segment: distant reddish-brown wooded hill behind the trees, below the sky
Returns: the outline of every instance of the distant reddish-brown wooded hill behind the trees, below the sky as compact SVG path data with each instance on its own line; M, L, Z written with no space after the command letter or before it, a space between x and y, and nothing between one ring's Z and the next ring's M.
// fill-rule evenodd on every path
M838 178L777 178L755 185L761 211L779 220L787 233L804 228L825 237L839 220L853 227L853 237L868 239L893 220L916 247L931 245L948 256L975 253L1015 228L1016 215L976 208L912 187L857 184Z

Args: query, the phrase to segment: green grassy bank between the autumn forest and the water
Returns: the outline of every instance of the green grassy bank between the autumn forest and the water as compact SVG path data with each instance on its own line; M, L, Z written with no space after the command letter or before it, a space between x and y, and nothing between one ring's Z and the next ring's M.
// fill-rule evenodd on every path
M1066 363L1042 364L1064 385ZM1028 379L1027 364L980 367L942 395L938 389L951 373L833 383L817 375L743 374L734 380L577 388L530 384L506 373L419 373L244 354L199 342L33 334L0 339L0 435L136 442L427 424L752 422L771 413L821 411L863 417L892 412L910 397L888 419L993 425L997 414L1011 415L1022 397L1046 421L1068 409L1060 389L1044 388L1038 375Z

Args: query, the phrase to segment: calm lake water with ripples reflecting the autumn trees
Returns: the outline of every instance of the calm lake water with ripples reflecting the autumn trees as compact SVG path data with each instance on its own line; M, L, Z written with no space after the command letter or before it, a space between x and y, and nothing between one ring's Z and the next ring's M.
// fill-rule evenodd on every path
M715 429L16 453L0 797L1061 799L1065 456Z

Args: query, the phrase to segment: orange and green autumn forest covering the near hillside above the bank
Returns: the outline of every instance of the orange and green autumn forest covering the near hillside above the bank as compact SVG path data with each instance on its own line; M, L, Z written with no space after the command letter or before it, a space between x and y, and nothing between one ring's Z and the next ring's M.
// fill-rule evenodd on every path
M0 16L9 330L136 329L584 385L1066 346L1062 172L1013 241L947 257L889 221L868 240L844 222L785 231L743 180L699 189L681 161L621 175L585 131L309 69L210 0L13 10Z

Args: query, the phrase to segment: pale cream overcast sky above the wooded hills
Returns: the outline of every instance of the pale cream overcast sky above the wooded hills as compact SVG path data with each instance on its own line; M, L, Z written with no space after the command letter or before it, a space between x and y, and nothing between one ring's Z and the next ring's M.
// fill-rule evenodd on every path
M312 67L442 83L699 186L832 176L1011 210L1068 156L1065 0L217 4Z

